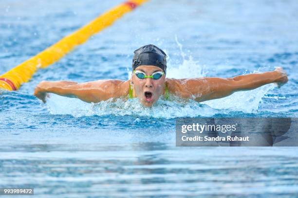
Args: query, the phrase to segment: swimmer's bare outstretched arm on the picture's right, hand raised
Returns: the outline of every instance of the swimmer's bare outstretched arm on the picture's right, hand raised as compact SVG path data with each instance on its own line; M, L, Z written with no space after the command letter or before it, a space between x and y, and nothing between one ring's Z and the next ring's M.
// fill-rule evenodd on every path
M233 94L258 88L262 85L276 82L279 86L288 81L285 71L278 67L274 71L246 74L234 78L195 78L176 80L168 83L169 91L182 98L205 101L219 99Z

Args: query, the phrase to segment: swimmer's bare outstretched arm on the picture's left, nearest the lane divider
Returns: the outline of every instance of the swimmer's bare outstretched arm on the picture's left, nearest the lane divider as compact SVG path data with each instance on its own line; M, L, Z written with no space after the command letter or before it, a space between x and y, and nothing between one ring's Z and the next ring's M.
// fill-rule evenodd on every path
M128 94L128 81L99 80L93 82L77 83L72 81L42 81L34 95L46 102L48 93L64 97L78 98L85 102L99 102L110 98L120 98Z

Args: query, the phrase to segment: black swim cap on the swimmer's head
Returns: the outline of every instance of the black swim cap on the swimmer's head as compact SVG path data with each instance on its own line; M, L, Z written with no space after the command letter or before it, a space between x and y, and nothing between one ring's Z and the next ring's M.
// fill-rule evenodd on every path
M155 45L146 45L136 49L132 59L132 70L138 66L158 66L166 73L167 55Z

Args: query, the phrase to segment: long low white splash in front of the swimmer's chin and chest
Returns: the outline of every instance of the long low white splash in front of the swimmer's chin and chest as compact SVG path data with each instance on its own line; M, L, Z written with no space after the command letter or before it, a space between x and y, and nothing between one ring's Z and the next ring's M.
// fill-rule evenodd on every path
M92 115L139 115L156 118L197 117L212 116L219 113L207 105L202 105L194 100L189 102L166 101L159 99L151 108L144 107L138 99L124 101L117 99L101 101L99 103L86 103L74 98L65 98L52 95L47 102L51 114L69 114L75 117Z

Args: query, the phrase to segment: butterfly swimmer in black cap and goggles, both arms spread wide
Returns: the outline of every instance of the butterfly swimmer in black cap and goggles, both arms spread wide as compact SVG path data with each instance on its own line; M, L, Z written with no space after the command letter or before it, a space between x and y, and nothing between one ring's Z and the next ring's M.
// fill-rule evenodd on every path
M146 45L134 51L132 74L127 81L98 80L83 83L42 81L37 85L34 95L43 102L46 102L48 93L94 103L111 98L138 98L144 106L151 107L160 96L169 99L172 95L202 102L223 98L237 91L255 89L269 83L277 83L280 87L288 81L287 74L281 67L274 71L233 78L166 78L166 58L167 55L162 49L154 45Z

